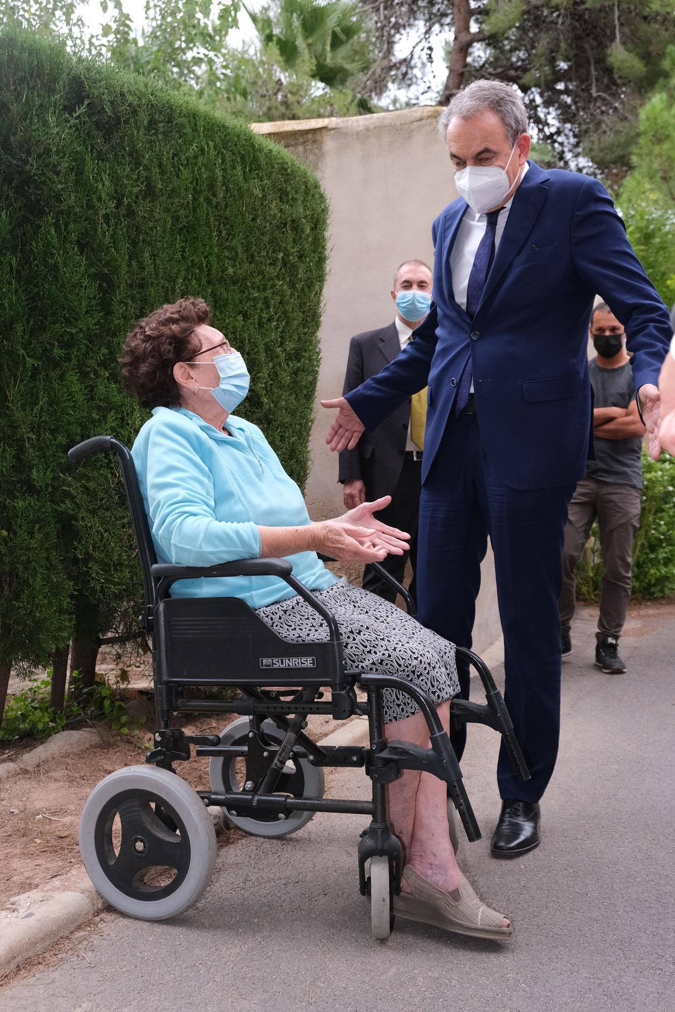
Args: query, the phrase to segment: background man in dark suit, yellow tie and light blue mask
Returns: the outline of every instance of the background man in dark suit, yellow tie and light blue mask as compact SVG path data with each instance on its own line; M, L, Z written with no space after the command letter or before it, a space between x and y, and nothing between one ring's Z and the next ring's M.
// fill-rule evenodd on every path
M352 337L343 394L360 387L365 380L376 375L388 362L393 361L406 347L415 328L423 322L431 305L431 269L427 264L422 260L407 260L402 263L394 275L392 299L397 309L393 323ZM420 398L422 405L419 404ZM410 534L410 553L387 556L382 565L401 582L410 556L413 579L408 589L413 599L416 599L417 520L422 487L425 419L426 392L423 392L416 397L406 398L382 425L360 440L358 446L342 450L339 454L338 481L344 488L343 498L347 509L353 509L366 499L372 502L383 496L392 496L390 505L377 516L384 523ZM396 600L396 594L389 584L368 567L363 571L363 588L388 601Z

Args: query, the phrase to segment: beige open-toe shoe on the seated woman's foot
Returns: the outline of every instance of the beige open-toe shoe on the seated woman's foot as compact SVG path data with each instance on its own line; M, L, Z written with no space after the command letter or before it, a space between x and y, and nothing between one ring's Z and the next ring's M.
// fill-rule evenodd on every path
M486 907L467 880L449 894L427 881L409 864L403 869L403 877L411 892L394 897L394 913L399 917L474 938L504 942L513 935L510 924L504 927L504 915Z

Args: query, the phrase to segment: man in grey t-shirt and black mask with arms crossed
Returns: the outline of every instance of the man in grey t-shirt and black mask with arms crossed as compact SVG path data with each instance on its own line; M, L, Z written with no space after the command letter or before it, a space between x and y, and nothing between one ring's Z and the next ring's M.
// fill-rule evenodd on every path
M645 426L638 414L623 327L605 303L593 310L591 337L597 358L589 363L595 395L595 460L579 482L565 528L563 592L559 601L563 657L572 653L570 625L575 609L574 570L597 517L604 575L595 663L607 674L621 674L618 639L630 600L632 542L640 525L643 487L642 442Z

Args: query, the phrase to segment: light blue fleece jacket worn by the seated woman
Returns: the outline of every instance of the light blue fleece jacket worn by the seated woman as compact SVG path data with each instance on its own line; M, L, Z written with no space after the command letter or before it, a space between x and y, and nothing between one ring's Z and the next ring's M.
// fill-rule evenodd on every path
M231 415L231 436L185 408L155 408L139 432L132 456L157 560L176 566L214 566L257 559L258 525L311 523L303 494L256 425ZM337 583L314 552L287 556L310 590ZM172 597L241 597L262 608L294 591L277 577L180 580Z

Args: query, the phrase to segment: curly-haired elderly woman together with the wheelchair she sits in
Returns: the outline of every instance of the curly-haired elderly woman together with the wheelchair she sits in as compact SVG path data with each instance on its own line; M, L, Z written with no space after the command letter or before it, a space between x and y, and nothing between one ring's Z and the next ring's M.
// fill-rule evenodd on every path
M455 648L339 580L320 559L376 564L402 554L408 535L375 519L388 499L310 520L260 429L232 414L249 375L209 319L202 300L183 299L128 336L124 384L152 410L133 465L107 436L71 451L80 462L114 449L122 466L144 570L142 624L153 637L159 729L150 765L111 774L87 802L80 831L87 870L119 910L158 920L194 903L213 873L204 806L220 805L235 824L269 837L293 832L317 811L363 813L372 821L359 846L359 879L371 897L375 937L389 935L398 913L506 940L509 921L478 899L448 833L449 788L470 839L480 837L448 738L459 690ZM488 705L457 699L453 719L501 731L525 777L501 695L480 659L466 653ZM184 691L213 684L236 685L241 697L195 700ZM322 686L330 701L321 701ZM367 704L357 701L355 686ZM222 736L190 738L169 721L190 710L242 715ZM369 748L314 743L303 731L310 712L366 712ZM189 757L190 744L210 756L209 791L197 793L168 772L172 761ZM372 803L323 798L323 767L331 765L365 766ZM153 879L159 867L170 869L170 882Z

